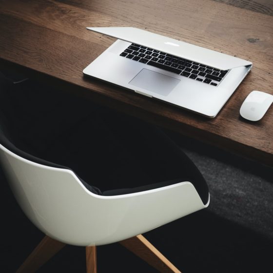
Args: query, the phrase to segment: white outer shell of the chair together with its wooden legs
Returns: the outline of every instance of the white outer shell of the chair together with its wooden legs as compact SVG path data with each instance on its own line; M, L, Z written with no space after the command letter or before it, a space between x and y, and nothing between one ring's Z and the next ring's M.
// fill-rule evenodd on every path
M46 234L18 273L35 272L65 244L86 247L87 273L96 273L96 246L114 242L160 272L179 272L139 234L209 205L209 192L202 200L190 181L124 195L94 194L72 170L22 152L1 130L0 163L21 209Z

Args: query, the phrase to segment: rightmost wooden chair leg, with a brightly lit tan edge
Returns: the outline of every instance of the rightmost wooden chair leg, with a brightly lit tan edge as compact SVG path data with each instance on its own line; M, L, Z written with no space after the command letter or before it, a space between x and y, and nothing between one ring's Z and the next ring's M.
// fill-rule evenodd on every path
M119 242L161 273L181 273L141 234Z

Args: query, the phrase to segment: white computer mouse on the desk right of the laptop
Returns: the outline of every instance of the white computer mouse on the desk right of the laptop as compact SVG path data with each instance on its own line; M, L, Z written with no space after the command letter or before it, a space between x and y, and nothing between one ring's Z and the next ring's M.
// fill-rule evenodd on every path
M240 115L248 120L260 120L273 102L273 95L261 91L252 91L244 100Z

